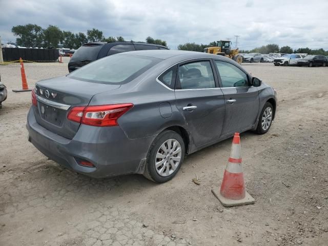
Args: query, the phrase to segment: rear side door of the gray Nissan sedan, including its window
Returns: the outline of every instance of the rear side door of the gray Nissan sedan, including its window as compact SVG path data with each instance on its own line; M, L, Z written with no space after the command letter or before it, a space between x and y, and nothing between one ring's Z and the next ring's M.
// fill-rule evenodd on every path
M196 146L220 137L225 112L224 97L210 59L179 64L175 97L176 106L185 117Z

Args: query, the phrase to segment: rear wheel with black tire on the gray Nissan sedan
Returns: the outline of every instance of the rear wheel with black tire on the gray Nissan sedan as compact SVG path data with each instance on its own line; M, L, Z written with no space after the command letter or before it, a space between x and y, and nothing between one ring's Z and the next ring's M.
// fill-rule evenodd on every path
M154 182L172 179L185 158L185 142L174 131L164 131L154 140L147 155L144 176Z

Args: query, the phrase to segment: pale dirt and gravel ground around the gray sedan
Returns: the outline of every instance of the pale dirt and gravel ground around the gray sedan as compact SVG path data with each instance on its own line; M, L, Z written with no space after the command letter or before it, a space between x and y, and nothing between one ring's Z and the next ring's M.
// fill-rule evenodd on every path
M30 87L65 64L26 64ZM188 156L176 177L92 179L48 160L27 140L30 93L19 65L0 66L0 245L328 245L328 68L243 65L278 92L264 135L241 134L253 205L224 208L218 189L232 139ZM197 174L201 185L192 178Z

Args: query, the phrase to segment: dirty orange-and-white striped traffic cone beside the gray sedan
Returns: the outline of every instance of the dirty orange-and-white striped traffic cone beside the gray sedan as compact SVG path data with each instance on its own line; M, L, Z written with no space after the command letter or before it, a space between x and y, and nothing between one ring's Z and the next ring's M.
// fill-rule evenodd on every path
M220 193L212 193L224 207L252 204L254 198L245 191L244 176L241 165L241 146L239 133L236 132L232 141L230 157L224 170Z

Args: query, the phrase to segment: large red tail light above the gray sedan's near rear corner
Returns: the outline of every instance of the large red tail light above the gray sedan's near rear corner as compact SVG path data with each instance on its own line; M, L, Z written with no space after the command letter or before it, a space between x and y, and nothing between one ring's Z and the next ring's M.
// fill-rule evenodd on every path
M67 118L90 126L118 126L117 119L132 107L133 104L79 106L72 108L68 113Z

